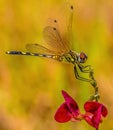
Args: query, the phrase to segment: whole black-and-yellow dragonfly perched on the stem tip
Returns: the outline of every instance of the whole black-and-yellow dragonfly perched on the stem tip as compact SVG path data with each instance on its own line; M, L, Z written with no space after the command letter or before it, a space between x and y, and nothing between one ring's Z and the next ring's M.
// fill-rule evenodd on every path
M27 55L51 58L57 61L66 61L74 65L74 74L76 79L90 82L90 78L80 76L78 69L83 73L90 73L90 65L83 65L87 61L87 55L84 52L76 52L70 49L71 36L72 36L72 21L73 21L74 7L70 5L70 15L68 17L67 27L65 33L61 33L58 26L58 21L53 20L53 25L46 26L43 29L43 37L47 45L51 48L48 49L40 44L26 44L26 52L22 51L7 51L6 54L10 55Z

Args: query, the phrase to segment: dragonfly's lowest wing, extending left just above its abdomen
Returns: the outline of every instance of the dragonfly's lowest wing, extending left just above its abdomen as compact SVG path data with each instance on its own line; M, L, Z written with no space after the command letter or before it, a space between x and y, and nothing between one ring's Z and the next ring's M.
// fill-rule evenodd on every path
M27 51L31 53L39 53L39 54L56 54L56 52L47 49L44 46L39 44L26 44Z

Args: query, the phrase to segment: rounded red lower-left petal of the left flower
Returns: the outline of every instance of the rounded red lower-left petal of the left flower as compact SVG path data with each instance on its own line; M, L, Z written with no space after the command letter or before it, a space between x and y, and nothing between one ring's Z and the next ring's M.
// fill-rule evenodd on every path
M71 114L69 112L69 109L67 107L66 103L63 103L57 110L55 116L55 120L64 123L71 120Z

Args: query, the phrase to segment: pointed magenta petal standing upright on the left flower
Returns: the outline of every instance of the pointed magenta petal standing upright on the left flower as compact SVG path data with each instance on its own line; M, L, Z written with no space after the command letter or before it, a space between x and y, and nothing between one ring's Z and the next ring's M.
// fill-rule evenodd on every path
M80 114L80 111L75 100L64 90L62 90L62 95L66 101L69 111L73 114L73 116L78 116Z

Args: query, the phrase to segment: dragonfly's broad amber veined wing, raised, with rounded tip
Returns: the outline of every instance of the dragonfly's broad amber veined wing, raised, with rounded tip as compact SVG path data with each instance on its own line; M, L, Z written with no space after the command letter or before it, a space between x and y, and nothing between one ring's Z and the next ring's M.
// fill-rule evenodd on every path
M57 53L69 52L69 47L66 40L61 36L57 27L47 26L43 30L44 40Z

